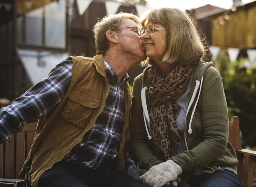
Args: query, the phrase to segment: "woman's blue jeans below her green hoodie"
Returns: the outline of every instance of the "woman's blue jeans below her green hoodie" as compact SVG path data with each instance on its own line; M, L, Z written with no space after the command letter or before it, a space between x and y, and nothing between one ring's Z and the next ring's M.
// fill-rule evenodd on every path
M244 187L244 184L230 170L220 170L212 174L190 175L190 187ZM174 187L165 185L164 187Z

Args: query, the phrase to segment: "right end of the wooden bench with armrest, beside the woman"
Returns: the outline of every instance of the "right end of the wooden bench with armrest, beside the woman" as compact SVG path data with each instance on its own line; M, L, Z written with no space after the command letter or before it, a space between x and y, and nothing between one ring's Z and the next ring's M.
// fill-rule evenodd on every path
M244 187L256 186L256 183L253 183L256 151L242 149L239 119L237 116L233 116L229 122L229 141L236 150L236 157L239 162L237 166L237 174L243 181Z

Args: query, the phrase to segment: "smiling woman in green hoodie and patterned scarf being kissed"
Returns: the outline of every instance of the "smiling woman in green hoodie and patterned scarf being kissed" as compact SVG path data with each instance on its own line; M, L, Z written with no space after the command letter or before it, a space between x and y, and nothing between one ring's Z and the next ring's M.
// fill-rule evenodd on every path
M150 187L242 187L228 141L222 78L189 16L150 9L142 19L148 66L134 80L131 143Z

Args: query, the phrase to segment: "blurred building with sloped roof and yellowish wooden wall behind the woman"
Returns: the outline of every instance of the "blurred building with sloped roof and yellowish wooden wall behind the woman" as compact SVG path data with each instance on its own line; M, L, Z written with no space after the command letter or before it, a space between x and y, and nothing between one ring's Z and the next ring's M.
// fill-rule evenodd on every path
M227 10L207 5L187 11L198 32L206 35L208 45L222 49L256 48L256 1L242 6L235 3Z

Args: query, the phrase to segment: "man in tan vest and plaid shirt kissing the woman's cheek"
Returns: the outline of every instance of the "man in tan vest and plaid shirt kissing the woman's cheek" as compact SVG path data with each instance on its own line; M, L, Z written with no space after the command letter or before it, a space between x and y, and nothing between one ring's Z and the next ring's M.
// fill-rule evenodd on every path
M97 55L63 60L0 110L0 143L35 119L24 163L32 187L139 187L126 175L131 92L126 73L146 59L140 20L121 13L94 26Z

